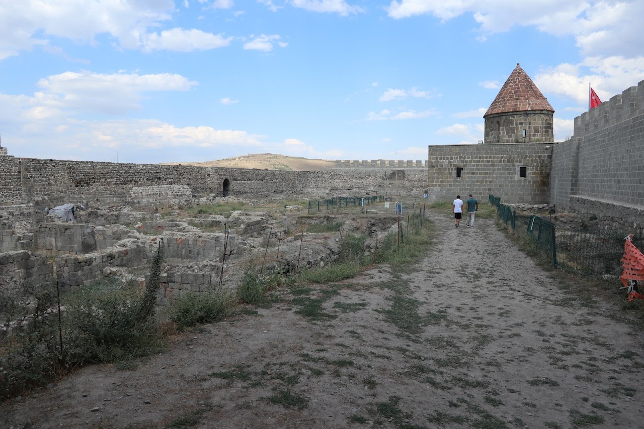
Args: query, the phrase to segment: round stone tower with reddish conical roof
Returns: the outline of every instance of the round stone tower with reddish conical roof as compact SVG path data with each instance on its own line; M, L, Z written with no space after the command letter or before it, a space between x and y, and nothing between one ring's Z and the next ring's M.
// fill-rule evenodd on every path
M554 141L553 106L519 63L483 115L485 143Z

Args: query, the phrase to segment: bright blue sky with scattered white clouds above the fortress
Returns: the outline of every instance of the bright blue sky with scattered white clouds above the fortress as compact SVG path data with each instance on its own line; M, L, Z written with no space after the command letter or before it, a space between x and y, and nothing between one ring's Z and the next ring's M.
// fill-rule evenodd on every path
M0 0L10 155L426 160L476 143L517 62L556 141L644 80L644 1Z

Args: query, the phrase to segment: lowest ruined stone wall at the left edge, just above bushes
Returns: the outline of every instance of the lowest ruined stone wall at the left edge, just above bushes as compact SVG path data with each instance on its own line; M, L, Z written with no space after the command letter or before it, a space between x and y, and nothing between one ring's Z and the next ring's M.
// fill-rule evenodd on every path
M23 282L32 284L53 281L53 264L27 250L0 253L0 289L15 289Z

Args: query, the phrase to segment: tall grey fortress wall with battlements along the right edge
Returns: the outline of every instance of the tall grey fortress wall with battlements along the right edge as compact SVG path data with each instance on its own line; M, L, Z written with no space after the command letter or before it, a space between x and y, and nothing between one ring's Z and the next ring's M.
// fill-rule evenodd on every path
M553 147L551 204L606 229L644 228L644 80L574 120Z

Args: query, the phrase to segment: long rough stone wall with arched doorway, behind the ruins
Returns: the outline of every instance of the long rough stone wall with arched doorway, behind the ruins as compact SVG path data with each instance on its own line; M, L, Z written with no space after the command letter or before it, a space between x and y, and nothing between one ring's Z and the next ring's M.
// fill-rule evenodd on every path
M185 201L223 196L226 179L232 196L260 198L275 194L324 196L342 190L378 188L412 192L427 183L422 163L412 169L396 166L308 172L2 156L0 205L33 203L40 210L70 201L129 205Z

